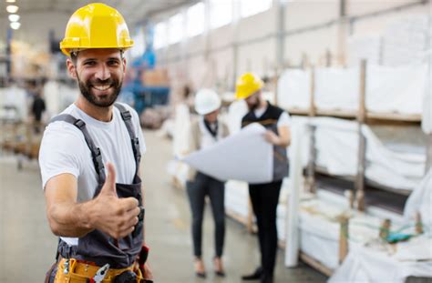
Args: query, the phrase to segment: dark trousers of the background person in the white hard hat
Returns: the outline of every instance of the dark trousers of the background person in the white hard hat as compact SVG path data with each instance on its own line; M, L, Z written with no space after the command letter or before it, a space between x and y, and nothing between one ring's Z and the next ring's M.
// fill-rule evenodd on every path
M209 196L215 226L215 256L221 257L225 238L224 183L198 172L192 182L187 183L192 212L192 240L195 257L201 258L202 219L205 197Z

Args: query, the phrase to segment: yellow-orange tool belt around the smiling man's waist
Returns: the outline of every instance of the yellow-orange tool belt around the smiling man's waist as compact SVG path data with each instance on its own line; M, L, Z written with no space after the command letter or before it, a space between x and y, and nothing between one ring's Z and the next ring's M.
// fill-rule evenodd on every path
M75 258L60 258L57 264L57 274L55 283L93 283L95 282L93 278L96 276L98 270L101 267L98 267L92 263L87 263L85 261L81 261ZM127 279L124 280L122 278L129 278L127 276L127 273L130 274L130 272L133 272L136 275L136 279L131 280ZM107 275L105 278L100 281L102 283L121 283L121 282L128 282L128 283L141 283L141 282L147 282L143 276L141 271L139 270L138 263L133 264L129 268L109 268L107 271Z

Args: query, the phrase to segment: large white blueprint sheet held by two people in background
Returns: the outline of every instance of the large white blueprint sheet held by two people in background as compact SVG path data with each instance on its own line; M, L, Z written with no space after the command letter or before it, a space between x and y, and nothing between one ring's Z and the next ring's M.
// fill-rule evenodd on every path
M273 177L273 146L263 137L265 128L253 123L211 147L196 151L182 161L220 180L268 183Z

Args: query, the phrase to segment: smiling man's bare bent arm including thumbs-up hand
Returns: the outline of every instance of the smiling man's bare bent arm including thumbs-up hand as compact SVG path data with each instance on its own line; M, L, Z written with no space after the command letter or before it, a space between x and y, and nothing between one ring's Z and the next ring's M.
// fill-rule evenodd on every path
M123 238L133 231L138 223L138 200L118 198L114 167L108 163L107 168L98 197L84 203L77 203L77 178L73 175L61 174L46 183L46 216L54 234L79 238L99 229L113 238Z

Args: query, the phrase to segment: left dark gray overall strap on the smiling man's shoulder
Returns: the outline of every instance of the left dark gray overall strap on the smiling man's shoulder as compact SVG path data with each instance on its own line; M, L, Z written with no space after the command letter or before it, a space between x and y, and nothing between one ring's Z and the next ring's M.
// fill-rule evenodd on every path
M73 126L77 126L77 128L81 131L81 133L83 133L84 139L86 140L87 143L87 147L90 149L91 152L93 165L95 166L96 173L98 174L98 184L104 184L105 170L104 170L104 163L102 161L102 155L100 154L99 147L95 146L95 144L93 143L93 139L88 134L86 123L84 123L83 120L77 119L74 116L68 114L60 114L53 117L49 121L49 124L57 121L67 122L69 124L72 124Z

